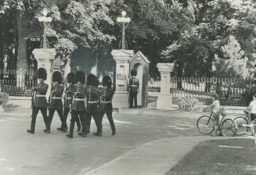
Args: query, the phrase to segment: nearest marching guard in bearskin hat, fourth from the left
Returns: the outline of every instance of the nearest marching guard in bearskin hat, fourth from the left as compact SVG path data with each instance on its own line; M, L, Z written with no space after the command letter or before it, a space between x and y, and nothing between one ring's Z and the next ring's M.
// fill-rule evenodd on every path
M78 120L78 116L81 120L82 130L81 136L86 137L87 132L85 128L85 98L86 98L86 87L85 87L85 73L78 71L74 80L77 85L74 87L74 98L71 105L71 120L70 120L70 132L67 137L72 138L74 132L74 123Z

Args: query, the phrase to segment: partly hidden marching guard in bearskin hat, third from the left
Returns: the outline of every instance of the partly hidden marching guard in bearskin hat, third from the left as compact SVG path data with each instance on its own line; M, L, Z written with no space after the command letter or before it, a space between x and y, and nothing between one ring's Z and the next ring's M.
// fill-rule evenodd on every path
M74 93L74 73L68 73L67 74L67 84L68 87L66 87L64 93L64 111L63 111L63 119L65 122L67 122L67 115L70 112L70 108L73 102L73 93ZM81 131L81 123L80 123L80 119L77 118L76 119L76 123L78 126L78 131ZM65 126L61 126L59 128L57 128L57 130L67 130L67 128L65 128Z

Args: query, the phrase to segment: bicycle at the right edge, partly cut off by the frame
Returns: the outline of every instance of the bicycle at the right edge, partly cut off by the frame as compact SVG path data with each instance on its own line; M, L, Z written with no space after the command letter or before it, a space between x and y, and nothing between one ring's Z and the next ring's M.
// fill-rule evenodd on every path
M252 135L254 135L254 128L256 127L256 120L251 121L249 112L243 111L244 115L236 116L234 119L237 125L236 135L243 135L250 128L252 130Z

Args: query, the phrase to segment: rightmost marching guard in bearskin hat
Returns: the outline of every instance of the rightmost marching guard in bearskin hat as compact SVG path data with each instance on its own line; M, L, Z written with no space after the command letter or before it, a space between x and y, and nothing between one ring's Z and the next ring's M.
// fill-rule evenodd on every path
M101 88L101 98L99 112L101 113L102 123L103 116L106 113L107 119L110 122L110 127L112 130L112 135L116 134L116 127L114 126L114 120L112 117L113 107L112 107L112 98L114 95L114 89L112 88L112 80L109 76L103 77L103 87Z

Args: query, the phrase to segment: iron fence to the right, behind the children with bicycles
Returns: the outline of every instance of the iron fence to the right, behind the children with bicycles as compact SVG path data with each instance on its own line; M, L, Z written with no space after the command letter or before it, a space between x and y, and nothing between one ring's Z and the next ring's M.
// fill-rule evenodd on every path
M149 91L160 91L160 87L150 87ZM246 106L256 93L256 82L230 77L171 77L170 91L173 101L193 97L210 105L211 95L217 93L221 105Z

